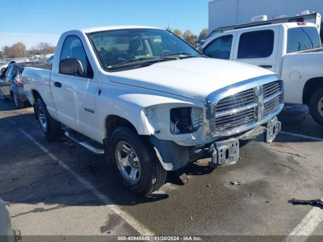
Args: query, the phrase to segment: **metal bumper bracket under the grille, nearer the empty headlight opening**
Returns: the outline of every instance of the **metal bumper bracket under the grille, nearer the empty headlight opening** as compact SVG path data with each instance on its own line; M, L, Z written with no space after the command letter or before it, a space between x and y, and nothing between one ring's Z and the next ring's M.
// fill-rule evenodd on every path
M229 139L215 142L210 145L209 153L212 161L211 167L220 168L235 164L239 160L239 140Z

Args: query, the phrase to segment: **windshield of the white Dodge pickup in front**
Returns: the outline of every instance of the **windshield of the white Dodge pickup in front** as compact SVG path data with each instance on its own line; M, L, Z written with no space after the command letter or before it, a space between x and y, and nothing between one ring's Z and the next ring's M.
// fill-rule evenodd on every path
M102 68L107 71L202 56L181 38L161 29L109 30L90 36Z

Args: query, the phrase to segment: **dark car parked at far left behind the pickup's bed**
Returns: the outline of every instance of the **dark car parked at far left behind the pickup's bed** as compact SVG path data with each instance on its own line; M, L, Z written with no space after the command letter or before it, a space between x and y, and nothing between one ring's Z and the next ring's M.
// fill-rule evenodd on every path
M27 66L39 65L39 62L21 62L10 64L0 76L0 99L12 99L17 108L23 108L28 101L23 89L21 73Z

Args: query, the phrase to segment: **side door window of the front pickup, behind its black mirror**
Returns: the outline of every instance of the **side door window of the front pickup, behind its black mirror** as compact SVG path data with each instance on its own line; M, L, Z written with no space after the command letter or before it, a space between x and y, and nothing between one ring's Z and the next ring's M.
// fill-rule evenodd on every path
M86 74L89 78L93 78L93 70L79 37L75 35L66 37L62 48L60 61L66 58L79 59L84 67L84 74Z

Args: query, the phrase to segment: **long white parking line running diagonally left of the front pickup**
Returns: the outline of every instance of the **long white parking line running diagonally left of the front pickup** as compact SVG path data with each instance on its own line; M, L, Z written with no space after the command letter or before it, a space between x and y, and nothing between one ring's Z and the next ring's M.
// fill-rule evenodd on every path
M21 128L18 128L20 132L22 132L28 139L30 139L35 145L37 145L43 152L45 152L51 159L59 162L59 164L71 173L83 186L85 186L88 190L90 190L98 199L100 199L105 206L112 209L116 214L118 214L122 219L124 219L130 226L132 226L138 233L141 235L149 235L153 236L153 232L151 232L148 228L146 228L143 224L138 222L135 218L133 218L130 214L122 211L115 205L112 200L106 195L97 191L87 180L83 179L77 173L75 173L68 165L66 165L62 160L57 158L55 155L50 153L44 146L42 146L39 142L37 142L31 135L29 135L26 131Z

